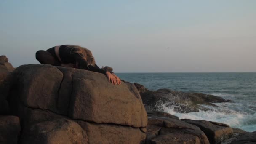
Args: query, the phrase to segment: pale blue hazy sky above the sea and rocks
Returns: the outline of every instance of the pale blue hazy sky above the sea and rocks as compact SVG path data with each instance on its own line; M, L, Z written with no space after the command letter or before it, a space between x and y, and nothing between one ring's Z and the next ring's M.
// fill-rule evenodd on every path
M0 55L73 44L114 72L256 72L256 0L0 0Z

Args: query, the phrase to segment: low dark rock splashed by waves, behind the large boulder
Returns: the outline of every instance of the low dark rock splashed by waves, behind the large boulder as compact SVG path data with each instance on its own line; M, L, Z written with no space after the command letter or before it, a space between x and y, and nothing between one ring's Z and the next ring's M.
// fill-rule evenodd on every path
M143 85L134 83L141 94L142 101L147 111L163 111L165 107L173 108L176 112L188 113L201 110L210 110L203 105L217 107L213 103L231 102L219 96L213 96L203 93L187 93L181 91L172 91L164 88L157 91L149 91Z

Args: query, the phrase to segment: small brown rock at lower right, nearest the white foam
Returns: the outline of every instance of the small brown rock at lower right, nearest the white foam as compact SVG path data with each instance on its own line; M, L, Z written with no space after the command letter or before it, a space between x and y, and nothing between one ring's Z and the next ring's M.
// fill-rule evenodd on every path
M229 125L205 120L182 119L184 122L198 126L208 137L211 144L220 144L233 136L233 129Z

